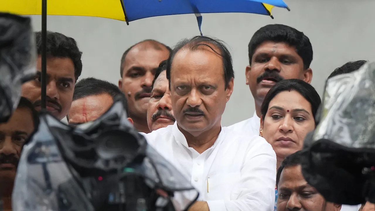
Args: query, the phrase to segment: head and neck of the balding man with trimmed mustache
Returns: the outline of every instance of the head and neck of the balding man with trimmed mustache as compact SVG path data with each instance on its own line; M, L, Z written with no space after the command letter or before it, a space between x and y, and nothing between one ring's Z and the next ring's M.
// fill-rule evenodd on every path
M122 55L118 87L127 98L129 117L140 132L150 133L147 109L152 81L159 63L168 59L170 51L168 46L148 39L133 45Z

